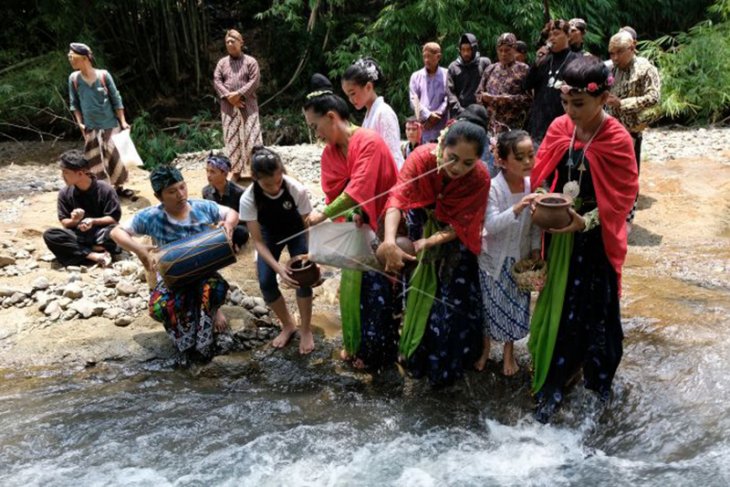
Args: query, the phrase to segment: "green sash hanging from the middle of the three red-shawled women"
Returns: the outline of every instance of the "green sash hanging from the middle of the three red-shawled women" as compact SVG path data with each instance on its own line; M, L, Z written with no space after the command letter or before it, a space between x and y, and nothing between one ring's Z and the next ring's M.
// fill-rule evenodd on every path
M423 238L430 237L438 228L433 212L429 211L428 220L423 226ZM431 307L438 286L435 252L432 250L421 250L418 253L418 265L408 281L403 331L398 347L401 357L410 358L416 351L426 331L428 317L431 315Z

